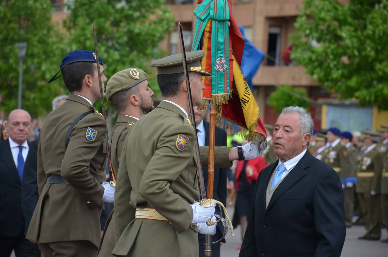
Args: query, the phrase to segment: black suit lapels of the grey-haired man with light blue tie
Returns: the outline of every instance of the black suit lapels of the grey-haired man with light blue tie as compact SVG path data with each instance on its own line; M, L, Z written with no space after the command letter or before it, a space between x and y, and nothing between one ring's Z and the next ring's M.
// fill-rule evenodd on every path
M311 159L312 159L312 155L307 150L305 155L303 155L302 159L295 165L295 167L289 172L286 178L284 178L283 181L279 184L279 186L275 189L274 193L272 194L271 200L269 201L267 210L271 208L274 202L285 191L287 191L291 186L293 186L296 182L298 182L299 179L301 179L303 176L306 175L305 169L310 167ZM268 182L269 182L269 179L267 181L267 185L268 185ZM267 189L267 186L265 186L265 188ZM264 197L265 197L265 193L264 193Z

